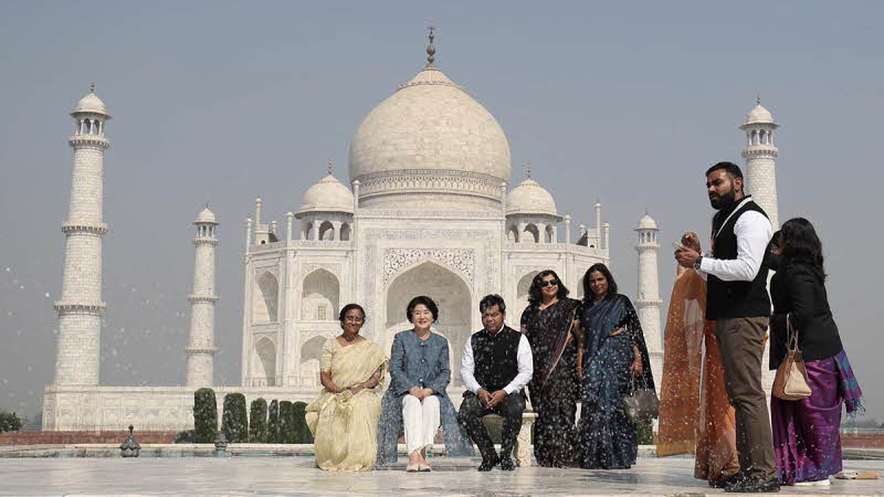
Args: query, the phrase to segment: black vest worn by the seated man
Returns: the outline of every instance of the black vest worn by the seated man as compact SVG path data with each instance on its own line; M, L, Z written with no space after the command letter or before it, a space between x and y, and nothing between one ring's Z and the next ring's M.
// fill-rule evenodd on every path
M494 336L485 329L470 337L473 376L488 392L502 390L518 374L518 342L522 334L508 326Z

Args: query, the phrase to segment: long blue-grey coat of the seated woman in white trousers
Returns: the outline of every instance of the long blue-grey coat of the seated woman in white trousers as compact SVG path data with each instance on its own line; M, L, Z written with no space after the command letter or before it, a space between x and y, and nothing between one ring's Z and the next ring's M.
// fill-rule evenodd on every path
M397 443L402 433L402 398L413 388L429 388L439 396L439 411L445 455L472 456L473 444L461 432L457 412L445 391L451 382L449 341L436 334L421 340L412 330L400 331L390 350L390 388L381 401L378 424L378 465L397 459Z

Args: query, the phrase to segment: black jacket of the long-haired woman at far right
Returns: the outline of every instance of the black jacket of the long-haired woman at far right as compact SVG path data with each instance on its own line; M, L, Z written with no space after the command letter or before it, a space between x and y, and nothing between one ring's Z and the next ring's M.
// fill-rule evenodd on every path
M841 351L841 336L829 308L825 284L814 267L786 263L770 281L770 369L777 369L786 357L788 314L798 330L798 348L806 361L827 359Z

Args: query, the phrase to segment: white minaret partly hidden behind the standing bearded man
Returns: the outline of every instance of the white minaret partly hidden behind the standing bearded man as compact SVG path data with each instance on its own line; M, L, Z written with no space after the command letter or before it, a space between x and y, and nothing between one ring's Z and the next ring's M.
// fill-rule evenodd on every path
M774 131L779 125L774 123L774 116L761 107L761 99L757 98L755 107L746 116L746 123L739 128L746 131L746 145L743 147L746 192L767 212L774 230L779 230L776 173L779 151L774 145Z

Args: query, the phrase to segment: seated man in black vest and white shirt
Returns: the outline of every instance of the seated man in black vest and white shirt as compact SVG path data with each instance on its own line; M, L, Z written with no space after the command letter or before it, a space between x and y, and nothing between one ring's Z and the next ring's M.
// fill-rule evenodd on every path
M466 341L461 366L461 379L466 387L457 421L478 446L482 465L478 470L515 469L512 453L522 430L525 394L522 389L534 373L534 360L528 339L504 325L506 304L499 295L487 295L478 304L484 329ZM494 451L482 417L497 414L504 419L501 455Z

